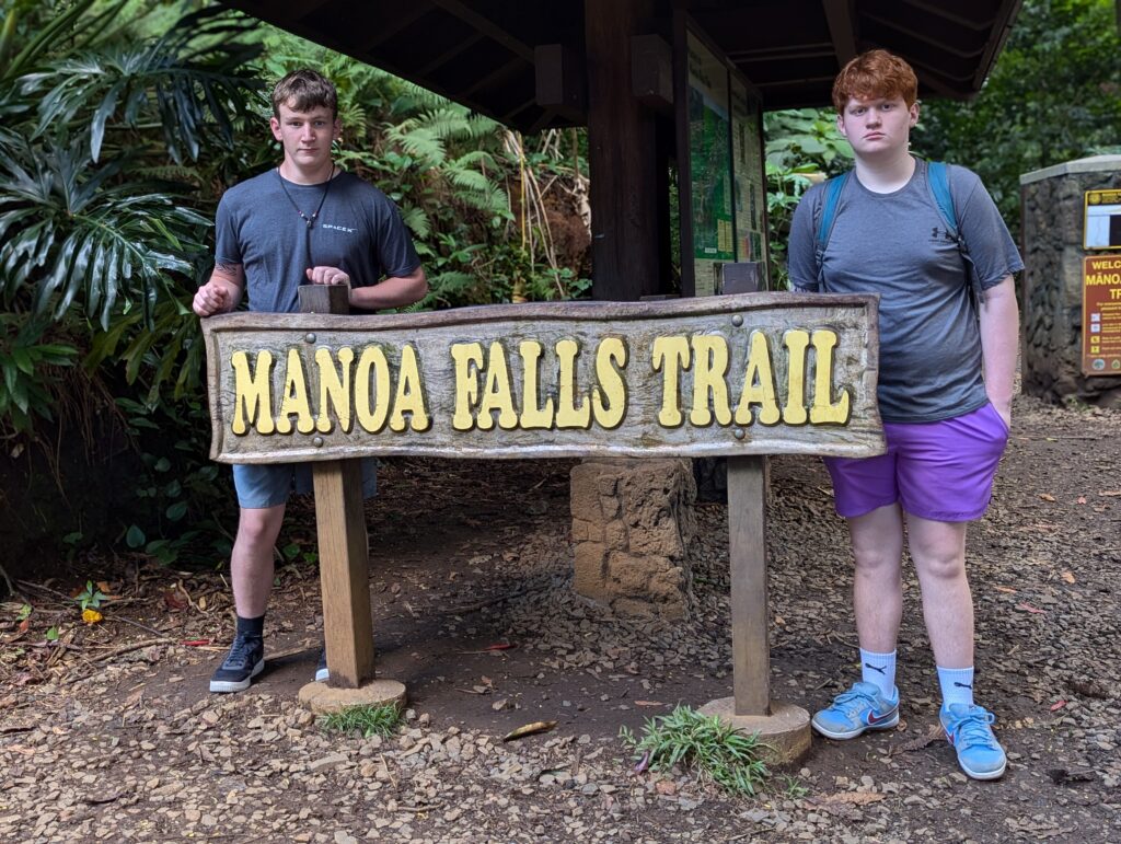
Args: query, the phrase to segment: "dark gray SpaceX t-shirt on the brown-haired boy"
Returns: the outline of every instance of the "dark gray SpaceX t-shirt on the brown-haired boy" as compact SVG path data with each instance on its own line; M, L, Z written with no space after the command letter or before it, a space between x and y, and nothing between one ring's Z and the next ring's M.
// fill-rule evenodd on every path
M350 173L332 180L315 225L308 229L299 211L312 216L325 187L325 183L281 183L272 169L222 196L215 259L244 267L250 310L299 310L297 289L308 284L304 275L308 267L337 267L351 277L352 286L361 287L383 276L406 276L420 266L397 206Z

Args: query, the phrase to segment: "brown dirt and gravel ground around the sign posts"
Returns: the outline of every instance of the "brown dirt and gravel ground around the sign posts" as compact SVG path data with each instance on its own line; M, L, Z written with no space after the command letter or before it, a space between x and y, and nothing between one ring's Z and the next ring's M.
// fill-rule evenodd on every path
M411 696L398 738L327 735L295 704L322 628L306 563L278 571L269 668L223 697L206 693L230 632L221 574L81 572L121 597L93 627L76 579L30 584L26 632L0 608L0 841L1121 841L1121 414L1016 411L970 535L999 782L929 739L912 576L897 730L815 738L754 799L633 773L620 725L730 694L724 508L698 508L693 618L627 622L571 591L571 463L393 461L370 521L379 670ZM814 709L855 671L844 527L816 460L775 458L770 503L772 688ZM286 542L307 548L297 516ZM62 644L44 646L53 625ZM558 725L501 742L538 720Z

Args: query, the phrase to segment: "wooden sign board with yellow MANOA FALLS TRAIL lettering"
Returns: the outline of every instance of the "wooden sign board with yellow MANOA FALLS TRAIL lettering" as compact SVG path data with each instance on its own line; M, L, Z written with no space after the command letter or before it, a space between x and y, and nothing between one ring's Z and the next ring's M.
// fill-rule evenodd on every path
M224 463L883 451L874 297L231 314L204 334Z

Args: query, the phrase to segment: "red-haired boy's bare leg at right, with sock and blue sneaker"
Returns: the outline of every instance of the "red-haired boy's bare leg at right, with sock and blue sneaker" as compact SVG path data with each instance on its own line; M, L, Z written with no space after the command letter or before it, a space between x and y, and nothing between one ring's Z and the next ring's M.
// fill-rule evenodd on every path
M938 667L946 740L973 779L997 779L1008 760L991 724L995 716L973 703L973 596L965 574L966 522L907 516L908 545L919 586L923 616Z

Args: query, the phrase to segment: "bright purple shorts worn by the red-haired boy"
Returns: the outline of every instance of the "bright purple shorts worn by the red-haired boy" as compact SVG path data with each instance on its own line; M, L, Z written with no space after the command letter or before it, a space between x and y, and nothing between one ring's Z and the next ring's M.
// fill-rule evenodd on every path
M853 518L898 501L933 521L980 519L1008 434L991 404L954 419L884 423L887 454L825 458L837 513Z

